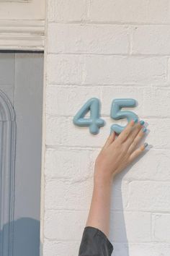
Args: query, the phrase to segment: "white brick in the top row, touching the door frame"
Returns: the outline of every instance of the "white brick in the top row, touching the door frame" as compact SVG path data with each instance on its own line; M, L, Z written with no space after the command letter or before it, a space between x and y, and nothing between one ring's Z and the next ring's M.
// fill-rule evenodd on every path
M49 22L78 22L86 20L86 0L49 0Z

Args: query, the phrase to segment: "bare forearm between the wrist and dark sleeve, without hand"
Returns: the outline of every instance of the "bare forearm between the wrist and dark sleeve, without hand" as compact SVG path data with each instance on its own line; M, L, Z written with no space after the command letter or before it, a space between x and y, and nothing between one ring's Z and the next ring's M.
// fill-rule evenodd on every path
M86 226L100 229L106 236L109 235L111 191L112 179L107 182L94 179L89 216L86 221Z

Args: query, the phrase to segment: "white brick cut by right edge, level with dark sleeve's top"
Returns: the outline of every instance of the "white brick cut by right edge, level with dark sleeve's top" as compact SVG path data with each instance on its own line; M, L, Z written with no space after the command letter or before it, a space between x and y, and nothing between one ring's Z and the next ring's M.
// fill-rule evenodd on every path
M152 234L155 242L170 242L170 214L153 214Z

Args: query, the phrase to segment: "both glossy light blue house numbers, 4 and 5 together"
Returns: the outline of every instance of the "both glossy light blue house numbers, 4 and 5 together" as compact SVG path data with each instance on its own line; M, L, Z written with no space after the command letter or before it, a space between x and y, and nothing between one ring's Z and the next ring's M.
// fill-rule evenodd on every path
M121 111L124 107L135 107L136 101L133 98L117 98L112 101L110 116L112 119L127 119L130 120L138 119L138 116L132 111ZM84 118L84 116L90 112L89 118ZM77 112L73 117L73 124L79 127L89 127L89 131L93 135L99 133L99 128L103 127L105 122L104 119L100 118L100 102L98 98L91 98L89 101L86 101L84 106ZM125 126L126 127L126 126ZM119 124L112 124L110 127L110 132L115 131L117 134L120 134L125 127L120 126Z

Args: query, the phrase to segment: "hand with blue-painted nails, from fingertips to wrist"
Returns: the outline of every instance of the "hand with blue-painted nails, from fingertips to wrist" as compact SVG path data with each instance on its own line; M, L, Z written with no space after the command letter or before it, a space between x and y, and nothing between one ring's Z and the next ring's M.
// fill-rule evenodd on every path
M134 120L131 120L117 139L115 139L115 132L109 135L95 161L94 182L112 182L112 178L116 174L120 173L143 152L148 143L136 148L146 132L143 124L144 121L135 123Z

